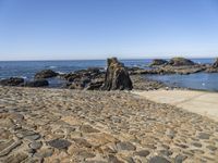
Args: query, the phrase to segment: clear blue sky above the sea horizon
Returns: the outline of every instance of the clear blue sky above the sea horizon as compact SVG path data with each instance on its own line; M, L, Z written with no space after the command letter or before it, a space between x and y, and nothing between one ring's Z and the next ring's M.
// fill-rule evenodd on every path
M218 57L218 0L0 0L0 60Z

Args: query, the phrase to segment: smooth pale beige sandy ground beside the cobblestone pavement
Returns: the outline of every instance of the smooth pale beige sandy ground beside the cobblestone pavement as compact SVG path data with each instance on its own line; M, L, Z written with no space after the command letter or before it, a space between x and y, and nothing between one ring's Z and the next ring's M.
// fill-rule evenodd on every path
M155 102L172 104L218 122L218 93L194 90L133 91Z

